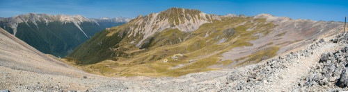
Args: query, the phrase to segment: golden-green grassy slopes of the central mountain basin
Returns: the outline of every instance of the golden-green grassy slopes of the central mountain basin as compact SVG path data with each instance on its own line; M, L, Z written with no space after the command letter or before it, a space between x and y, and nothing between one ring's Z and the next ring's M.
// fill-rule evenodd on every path
M253 22L251 22L253 21ZM244 25L238 25L245 23ZM104 30L102 33L98 33L95 38L88 40L85 44L82 44L78 48L86 48L84 50L93 49L90 47L95 46L95 42L104 41L107 38L118 39L120 32L127 29L125 24L112 28L112 30ZM255 27L256 26L256 27ZM254 28L254 30L247 31L248 28ZM113 76L152 76L152 77L178 77L180 75L186 75L188 73L196 73L202 71L211 71L219 68L207 68L216 64L230 64L233 61L221 61L221 53L225 53L235 47L240 46L253 46L248 41L258 39L259 36L255 34L267 35L274 28L275 25L266 23L265 19L252 19L252 17L232 17L223 18L221 21L214 20L213 23L207 23L200 26L198 30L193 33L183 33L177 29L166 29L159 33L155 33L152 37L145 40L142 45L143 49L136 48L134 44L129 44L134 41L134 37L122 37L120 42L111 42L111 46L108 46L109 50L104 53L112 52L111 54L105 54L98 57L104 58L99 63L87 64L85 61L81 61L84 65L76 65L80 68L88 69L88 72ZM107 34L107 35L106 35ZM206 34L209 36L205 37ZM141 35L137 35L141 36ZM136 36L136 37L137 37ZM103 38L102 38L103 37ZM93 42L93 40L95 41ZM182 42L180 42L180 39ZM219 41L225 42L217 43ZM114 46L112 46L114 45ZM105 49L105 48L98 48ZM265 50L272 50L270 52L259 51L253 55L247 56L246 62L258 62L265 57L273 57L278 50L278 47L267 48ZM81 50L77 50L80 51ZM86 52L86 51L85 51ZM87 51L88 52L88 51ZM120 55L123 53L124 55ZM174 54L181 53L184 56L175 59L170 59ZM80 57L85 53L72 53L73 57ZM97 53L100 55L102 53ZM94 54L96 55L96 54ZM112 55L112 56L111 56ZM111 56L111 57L110 57ZM95 57L88 55L84 57ZM245 58L245 57L244 57ZM163 62L164 59L168 59L168 62ZM79 59L81 60L81 58ZM95 62L95 61L93 61ZM185 64L180 68L171 69L172 67ZM108 69L103 69L107 66ZM96 68L100 67L100 68Z

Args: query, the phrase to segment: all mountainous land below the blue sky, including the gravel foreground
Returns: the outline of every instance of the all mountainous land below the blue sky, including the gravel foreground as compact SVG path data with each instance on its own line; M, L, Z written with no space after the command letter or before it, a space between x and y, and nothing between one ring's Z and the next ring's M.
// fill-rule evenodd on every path
M19 16L1 19L0 91L348 90L340 21L184 8L134 19ZM86 41L64 58L35 47L61 51L77 39Z

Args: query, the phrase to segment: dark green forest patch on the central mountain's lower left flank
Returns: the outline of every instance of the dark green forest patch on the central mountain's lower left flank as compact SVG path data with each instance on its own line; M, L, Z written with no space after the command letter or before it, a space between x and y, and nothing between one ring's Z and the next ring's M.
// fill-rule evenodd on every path
M68 55L69 57L74 57L79 61L83 61L82 64L95 64L104 59L109 59L113 56L113 50L111 47L118 47L118 44L123 37L125 37L125 33L116 33L111 37L106 37L108 32L102 31L100 33L95 34L90 40L87 40L75 50ZM120 36L119 36L120 35ZM78 53L78 54L75 54ZM117 53L124 55L123 53Z

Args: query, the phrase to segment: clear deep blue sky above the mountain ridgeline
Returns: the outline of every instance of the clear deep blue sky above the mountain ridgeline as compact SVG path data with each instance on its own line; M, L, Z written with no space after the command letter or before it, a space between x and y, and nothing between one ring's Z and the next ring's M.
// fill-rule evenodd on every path
M215 15L268 13L317 21L345 21L344 17L348 16L348 0L0 0L0 17L35 12L88 18L133 18L173 7L198 9Z

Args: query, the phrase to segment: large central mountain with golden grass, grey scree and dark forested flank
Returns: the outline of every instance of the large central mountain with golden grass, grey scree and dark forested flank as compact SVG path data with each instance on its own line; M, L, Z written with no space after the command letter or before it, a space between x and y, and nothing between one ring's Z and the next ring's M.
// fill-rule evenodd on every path
M106 28L65 59L100 75L177 77L255 64L338 33L340 27L342 22L335 21L169 8Z

